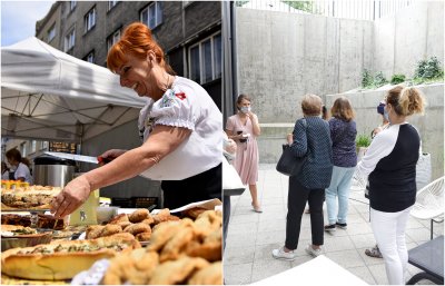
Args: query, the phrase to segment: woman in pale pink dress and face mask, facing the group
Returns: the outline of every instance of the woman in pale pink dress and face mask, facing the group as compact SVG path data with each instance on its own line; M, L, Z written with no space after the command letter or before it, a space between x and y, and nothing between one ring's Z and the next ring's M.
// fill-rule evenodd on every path
M246 95L238 97L238 112L227 119L226 132L237 144L237 155L233 164L243 184L249 185L251 207L254 211L263 213L257 191L258 145L256 139L261 131L258 117L251 112L250 101Z

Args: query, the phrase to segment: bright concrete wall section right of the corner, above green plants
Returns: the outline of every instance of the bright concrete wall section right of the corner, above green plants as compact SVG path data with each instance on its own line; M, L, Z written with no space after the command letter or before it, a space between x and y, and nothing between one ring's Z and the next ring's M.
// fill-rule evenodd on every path
M437 57L444 67L444 2L417 1L374 24L374 71L389 80L414 76L419 60Z

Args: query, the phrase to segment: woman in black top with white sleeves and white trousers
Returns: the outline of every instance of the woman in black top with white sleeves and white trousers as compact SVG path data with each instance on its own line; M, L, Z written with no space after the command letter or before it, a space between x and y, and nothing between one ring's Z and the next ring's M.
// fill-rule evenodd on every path
M385 259L388 283L405 284L408 262L405 228L416 200L416 162L421 138L406 121L423 114L424 98L416 88L395 87L388 91L386 111L389 127L376 135L357 165L357 174L369 180L370 226Z

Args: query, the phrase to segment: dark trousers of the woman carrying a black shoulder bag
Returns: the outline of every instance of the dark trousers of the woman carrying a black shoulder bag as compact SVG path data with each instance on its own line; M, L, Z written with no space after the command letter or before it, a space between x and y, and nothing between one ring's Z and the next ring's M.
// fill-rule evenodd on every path
M287 197L286 248L294 250L298 247L301 216L306 201L309 201L310 230L313 245L323 245L324 221L323 200L325 189L308 189L304 187L295 176L289 177L289 190Z

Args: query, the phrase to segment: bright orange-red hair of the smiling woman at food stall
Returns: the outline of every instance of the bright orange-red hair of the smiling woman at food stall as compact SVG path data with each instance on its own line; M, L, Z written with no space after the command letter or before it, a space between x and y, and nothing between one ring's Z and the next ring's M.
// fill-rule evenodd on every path
M141 22L134 22L127 27L122 37L108 51L107 67L116 71L127 61L127 53L141 60L147 58L147 52L154 51L159 66L170 75L176 75L171 67L165 61L164 50L152 39L151 30Z

